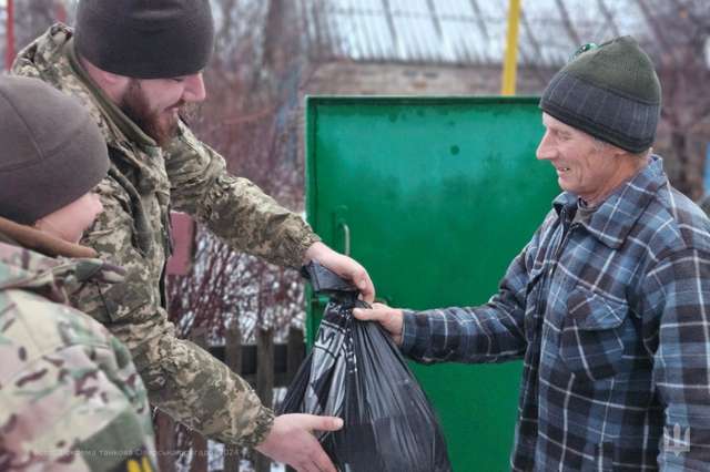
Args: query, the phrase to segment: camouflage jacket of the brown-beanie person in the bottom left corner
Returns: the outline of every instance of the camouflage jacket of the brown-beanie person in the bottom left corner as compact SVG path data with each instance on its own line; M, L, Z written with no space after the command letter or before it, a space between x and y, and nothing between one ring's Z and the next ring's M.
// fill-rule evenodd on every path
M72 285L120 277L98 259L0 243L0 470L155 469L148 393L128 349L63 305Z

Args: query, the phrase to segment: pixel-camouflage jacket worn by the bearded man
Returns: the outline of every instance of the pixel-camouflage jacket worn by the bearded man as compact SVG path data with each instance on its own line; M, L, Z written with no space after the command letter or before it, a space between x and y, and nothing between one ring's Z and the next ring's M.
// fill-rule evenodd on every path
M243 445L261 442L273 422L251 387L194 343L178 339L161 288L170 254L169 212L185 212L232 247L297 267L317 236L245 178L181 123L162 150L130 121L80 65L72 30L55 24L20 52L12 72L36 76L78 98L103 132L111 155L98 187L104 213L82 244L128 269L108 290L77 300L123 341L150 400L207 438Z

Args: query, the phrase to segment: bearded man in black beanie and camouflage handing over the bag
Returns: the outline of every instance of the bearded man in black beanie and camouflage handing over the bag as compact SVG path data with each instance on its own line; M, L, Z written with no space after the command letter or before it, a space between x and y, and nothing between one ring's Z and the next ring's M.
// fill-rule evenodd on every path
M374 298L361 265L321 243L250 181L230 175L180 120L183 105L205 99L202 69L213 44L209 0L81 0L75 29L55 24L20 52L12 72L78 98L111 157L98 187L104 212L82 243L125 267L128 277L109 289L88 287L75 305L129 347L151 402L176 420L302 470L333 470L310 431L337 429L339 420L274 419L243 379L178 339L168 321L171 208L271 263L300 267L317 259Z

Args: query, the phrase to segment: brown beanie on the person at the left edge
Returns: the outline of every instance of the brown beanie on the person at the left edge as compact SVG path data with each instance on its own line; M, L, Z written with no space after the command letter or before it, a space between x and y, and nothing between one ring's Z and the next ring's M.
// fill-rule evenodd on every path
M89 112L44 82L1 76L0 116L0 216L33 224L106 175L106 144Z

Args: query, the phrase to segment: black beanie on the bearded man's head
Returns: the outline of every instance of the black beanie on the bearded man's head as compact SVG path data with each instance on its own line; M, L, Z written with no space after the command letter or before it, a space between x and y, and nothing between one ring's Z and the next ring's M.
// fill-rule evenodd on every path
M192 75L214 47L210 0L80 0L75 41L80 55L119 75Z

